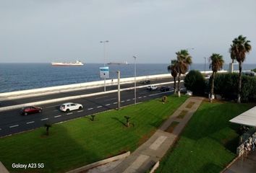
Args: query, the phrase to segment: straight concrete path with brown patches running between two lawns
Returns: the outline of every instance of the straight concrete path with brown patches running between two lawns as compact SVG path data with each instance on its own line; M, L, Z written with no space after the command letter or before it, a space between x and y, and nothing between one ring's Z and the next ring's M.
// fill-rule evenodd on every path
M202 97L190 97L153 136L109 173L147 172L175 143L184 126L202 102ZM174 124L176 125L174 127Z

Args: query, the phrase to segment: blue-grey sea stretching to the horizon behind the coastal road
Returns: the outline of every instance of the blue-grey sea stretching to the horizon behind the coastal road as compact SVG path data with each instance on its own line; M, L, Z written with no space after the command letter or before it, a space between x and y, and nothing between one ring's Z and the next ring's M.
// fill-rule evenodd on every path
M0 63L0 93L14 92L25 89L36 89L65 84L79 84L88 81L103 80L99 76L99 68L103 64L87 63L85 66L51 66L50 63ZM164 63L137 63L137 76L154 74L168 74ZM109 65L110 79L116 79L116 71L120 71L121 78L135 75L134 64ZM228 70L225 64L223 70ZM256 64L243 64L243 70L256 68ZM193 63L190 70L205 71L204 63ZM234 66L238 70L238 65ZM209 64L206 64L209 71Z

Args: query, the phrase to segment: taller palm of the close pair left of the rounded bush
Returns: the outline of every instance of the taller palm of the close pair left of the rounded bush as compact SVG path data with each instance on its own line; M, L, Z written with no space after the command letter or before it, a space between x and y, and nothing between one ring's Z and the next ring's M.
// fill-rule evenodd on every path
M176 52L177 55L177 72L178 72L178 97L181 97L180 80L181 75L186 74L189 65L192 63L192 56L189 55L187 50L180 50Z

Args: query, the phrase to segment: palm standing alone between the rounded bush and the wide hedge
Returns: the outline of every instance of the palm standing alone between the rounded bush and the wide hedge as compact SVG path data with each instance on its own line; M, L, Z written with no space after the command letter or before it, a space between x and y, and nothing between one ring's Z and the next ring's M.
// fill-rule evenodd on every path
M221 68L223 67L224 61L223 61L223 56L221 56L220 54L217 53L213 53L212 56L210 56L210 67L212 68L213 74L211 76L211 88L210 88L210 102L213 101L213 88L214 88L214 79L216 76L217 71L221 70Z

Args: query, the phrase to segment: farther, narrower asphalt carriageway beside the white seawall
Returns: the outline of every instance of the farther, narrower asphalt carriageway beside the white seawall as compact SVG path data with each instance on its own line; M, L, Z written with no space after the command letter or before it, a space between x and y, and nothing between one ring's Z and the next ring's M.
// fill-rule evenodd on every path
M150 84L158 84L158 83L163 83L163 82L169 82L173 81L173 78L167 78L167 79L158 79L158 80L150 80ZM142 86L140 82L137 82L137 86ZM121 89L128 88L134 86L134 83L132 84L121 84ZM117 85L113 86L106 86L106 91L114 90L117 89ZM74 92L60 92L56 94L46 94L46 95L41 95L37 97L26 97L26 98L20 98L20 99L10 99L10 100L3 100L1 101L0 107L7 107L7 106L12 106L12 105L20 105L20 104L25 104L25 103L30 103L30 102L38 102L38 101L43 101L43 100L48 100L48 99L56 99L56 98L61 98L61 97L70 97L70 96L77 96L77 95L82 95L82 94L91 94L91 93L96 93L96 92L103 92L103 86L93 88L93 89L83 89L83 90L77 90ZM1 112L0 112L1 114Z

